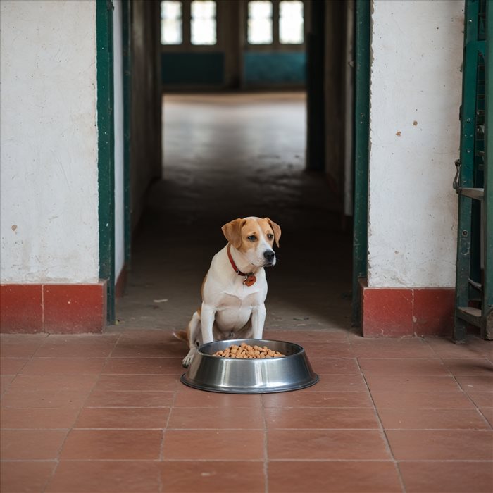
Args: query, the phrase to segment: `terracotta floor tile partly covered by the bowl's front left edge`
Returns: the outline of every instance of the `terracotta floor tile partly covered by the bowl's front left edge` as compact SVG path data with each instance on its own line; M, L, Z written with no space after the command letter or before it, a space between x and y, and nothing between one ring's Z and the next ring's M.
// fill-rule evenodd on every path
M180 384L175 407L257 407L261 406L259 394L223 394L221 392L204 392Z

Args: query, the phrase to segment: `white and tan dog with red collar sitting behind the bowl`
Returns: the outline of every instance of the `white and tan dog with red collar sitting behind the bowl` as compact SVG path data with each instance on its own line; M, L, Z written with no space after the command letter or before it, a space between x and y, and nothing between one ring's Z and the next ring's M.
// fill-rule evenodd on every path
M202 282L201 308L187 330L175 333L186 340L189 352L183 366L206 342L224 339L262 339L266 320L265 267L275 266L274 243L279 247L281 228L269 218L238 218L222 228L226 246L213 256Z

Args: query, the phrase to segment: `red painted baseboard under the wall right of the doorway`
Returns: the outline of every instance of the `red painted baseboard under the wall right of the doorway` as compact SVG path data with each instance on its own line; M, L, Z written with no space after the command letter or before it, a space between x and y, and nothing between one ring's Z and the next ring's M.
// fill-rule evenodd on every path
M453 287L368 287L361 281L363 337L451 335Z

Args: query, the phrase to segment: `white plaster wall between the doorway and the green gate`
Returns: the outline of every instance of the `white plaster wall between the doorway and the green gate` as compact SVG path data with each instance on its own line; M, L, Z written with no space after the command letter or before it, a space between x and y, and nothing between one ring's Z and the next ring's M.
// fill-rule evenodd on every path
M463 1L373 1L368 285L455 285Z

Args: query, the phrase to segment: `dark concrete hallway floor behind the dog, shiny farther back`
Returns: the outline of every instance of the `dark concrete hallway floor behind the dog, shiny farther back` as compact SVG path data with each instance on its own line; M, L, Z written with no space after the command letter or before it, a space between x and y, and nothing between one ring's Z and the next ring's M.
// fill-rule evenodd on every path
M305 94L167 95L163 129L163 180L149 192L113 329L184 328L225 244L221 226L244 216L282 228L266 337L269 328L349 329L351 232L325 176L304 171Z

